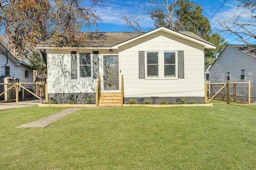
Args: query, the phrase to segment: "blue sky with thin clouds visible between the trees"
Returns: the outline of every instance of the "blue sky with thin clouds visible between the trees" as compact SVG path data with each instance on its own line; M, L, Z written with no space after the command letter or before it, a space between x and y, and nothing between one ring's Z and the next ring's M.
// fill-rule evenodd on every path
M221 4L225 0L195 0L194 2L201 5L203 8L203 14L210 20L214 12L218 10ZM95 10L101 17L102 21L98 24L99 31L132 31L127 28L120 17L137 16L140 19L143 29L150 30L154 28L154 22L150 19L149 14L145 10L145 7L150 8L150 3L147 0L135 1L135 0L106 0L100 4ZM218 32L220 27L218 22L223 20L229 20L234 12L237 12L237 3L234 0L227 0L221 10L214 16L211 21L213 32ZM228 37L227 33L220 33L223 38ZM231 35L226 40L231 44L241 44L241 42L235 40L237 37ZM235 41L234 41L235 40ZM255 40L254 40L255 41ZM255 43L255 42L252 42Z

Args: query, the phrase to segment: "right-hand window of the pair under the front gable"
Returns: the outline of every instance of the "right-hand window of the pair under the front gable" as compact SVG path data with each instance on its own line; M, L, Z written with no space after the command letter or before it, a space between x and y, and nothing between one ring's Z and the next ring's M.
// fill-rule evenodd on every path
M175 77L175 53L164 52L164 77Z

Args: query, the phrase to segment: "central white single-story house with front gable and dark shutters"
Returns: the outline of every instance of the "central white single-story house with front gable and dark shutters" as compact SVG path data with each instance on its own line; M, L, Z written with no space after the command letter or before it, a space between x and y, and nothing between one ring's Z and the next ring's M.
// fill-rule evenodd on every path
M87 45L58 48L50 39L37 46L47 52L49 99L57 103L95 99L98 74L102 96L107 96L105 92L118 93L123 74L124 103L148 99L152 104L162 100L174 104L181 103L182 98L204 103L204 49L215 46L194 33L161 27L146 33L80 36Z

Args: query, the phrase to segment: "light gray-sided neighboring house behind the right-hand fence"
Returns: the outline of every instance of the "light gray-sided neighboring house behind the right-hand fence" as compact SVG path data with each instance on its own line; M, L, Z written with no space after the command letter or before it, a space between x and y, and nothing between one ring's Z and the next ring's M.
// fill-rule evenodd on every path
M227 45L210 68L211 83L251 81L251 101L256 101L256 45ZM213 93L218 87L213 88ZM230 86L233 96L233 86ZM247 84L237 84L238 100L247 100Z

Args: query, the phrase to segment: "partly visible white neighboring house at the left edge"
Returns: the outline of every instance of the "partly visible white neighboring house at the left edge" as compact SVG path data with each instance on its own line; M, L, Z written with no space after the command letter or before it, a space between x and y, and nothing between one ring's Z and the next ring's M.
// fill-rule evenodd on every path
M7 55L6 55L7 53ZM7 56L7 60L6 60ZM25 62L15 58L5 47L0 43L0 83L19 81L19 82L34 82L33 69ZM0 94L7 86L0 86ZM26 85L26 88L33 88L33 85ZM4 99L6 96L0 96Z

